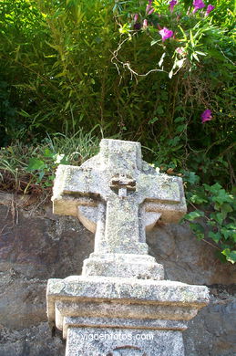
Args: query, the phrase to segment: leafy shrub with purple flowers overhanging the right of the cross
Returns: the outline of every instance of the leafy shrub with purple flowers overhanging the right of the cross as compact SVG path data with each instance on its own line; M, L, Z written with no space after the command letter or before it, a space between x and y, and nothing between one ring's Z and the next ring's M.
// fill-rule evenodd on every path
M235 183L233 4L210 3L216 12L206 17L200 11L192 14L193 7L186 12L192 2L180 1L170 13L168 1L153 1L151 15L142 1L120 2L118 22L125 26L121 32L128 41L121 42L115 59L123 76L128 68L133 76L134 72L149 73L136 79L142 88L149 78L145 99L153 108L150 113L145 105L149 117L145 138L149 144L145 145L154 152L155 163L163 171L196 172L205 183L214 183L217 176L231 188ZM225 22L218 26L220 13ZM148 26L143 26L145 19ZM161 41L159 29L164 26L173 31L173 37ZM130 56L132 47L136 56ZM212 111L212 120L201 124L200 113L206 109Z

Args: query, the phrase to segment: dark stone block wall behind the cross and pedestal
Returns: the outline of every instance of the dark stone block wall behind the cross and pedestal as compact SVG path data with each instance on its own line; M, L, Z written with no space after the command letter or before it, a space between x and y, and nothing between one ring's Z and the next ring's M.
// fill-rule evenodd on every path
M0 234L0 356L64 356L64 341L46 322L46 282L79 275L93 235L75 218L52 215L51 204L11 194L0 194ZM236 268L221 264L188 225L157 225L147 237L167 279L210 287L210 306L184 332L186 356L235 355Z

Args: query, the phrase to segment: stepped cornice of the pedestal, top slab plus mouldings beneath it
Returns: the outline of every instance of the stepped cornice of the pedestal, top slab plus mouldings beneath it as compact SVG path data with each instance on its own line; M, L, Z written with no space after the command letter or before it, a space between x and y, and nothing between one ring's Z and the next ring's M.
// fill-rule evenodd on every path
M63 330L64 338L68 326L184 330L185 320L209 300L204 286L120 277L50 279L46 295L49 322Z

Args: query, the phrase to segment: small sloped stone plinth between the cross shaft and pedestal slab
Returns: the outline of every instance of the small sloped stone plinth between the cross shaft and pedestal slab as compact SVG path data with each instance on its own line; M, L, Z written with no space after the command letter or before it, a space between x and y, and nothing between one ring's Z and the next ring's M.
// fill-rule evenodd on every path
M84 261L82 275L161 280L164 268L149 255L93 253Z

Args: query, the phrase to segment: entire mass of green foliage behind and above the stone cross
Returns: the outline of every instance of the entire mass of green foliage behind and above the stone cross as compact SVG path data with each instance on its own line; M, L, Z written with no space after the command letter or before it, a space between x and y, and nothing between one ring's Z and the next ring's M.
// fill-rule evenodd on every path
M208 238L233 260L235 12L231 0L204 3L215 6L209 16L206 7L193 14L191 0L172 12L169 1L154 0L151 14L144 0L4 0L2 189L49 190L60 159L93 154L94 138L81 143L86 132L140 141L144 158L182 176L190 204L204 206L189 215L195 234L207 234L195 219L211 222ZM173 32L164 41L163 27Z

